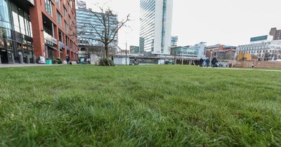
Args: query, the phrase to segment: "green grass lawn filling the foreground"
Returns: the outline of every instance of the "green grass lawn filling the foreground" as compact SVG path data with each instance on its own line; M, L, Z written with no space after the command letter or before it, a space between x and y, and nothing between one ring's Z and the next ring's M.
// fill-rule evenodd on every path
M0 146L281 146L281 73L0 69Z

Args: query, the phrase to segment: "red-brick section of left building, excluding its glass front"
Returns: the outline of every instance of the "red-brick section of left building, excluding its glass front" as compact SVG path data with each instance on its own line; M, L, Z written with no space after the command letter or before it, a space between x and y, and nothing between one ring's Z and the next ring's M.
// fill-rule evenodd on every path
M34 0L30 20L35 56L77 60L75 0Z

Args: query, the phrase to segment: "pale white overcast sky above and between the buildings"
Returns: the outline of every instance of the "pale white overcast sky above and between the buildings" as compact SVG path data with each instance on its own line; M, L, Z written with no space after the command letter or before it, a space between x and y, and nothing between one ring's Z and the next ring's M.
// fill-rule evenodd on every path
M119 46L138 45L140 0L84 1L93 10L96 3L110 6L119 20L130 13L130 28L119 31ZM242 45L267 35L271 27L281 29L281 0L174 0L171 35L178 36L178 45Z

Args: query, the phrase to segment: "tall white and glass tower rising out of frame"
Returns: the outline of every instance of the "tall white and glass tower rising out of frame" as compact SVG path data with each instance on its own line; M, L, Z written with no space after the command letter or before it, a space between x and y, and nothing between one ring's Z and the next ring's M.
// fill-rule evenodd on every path
M169 55L173 0L141 0L141 52Z

